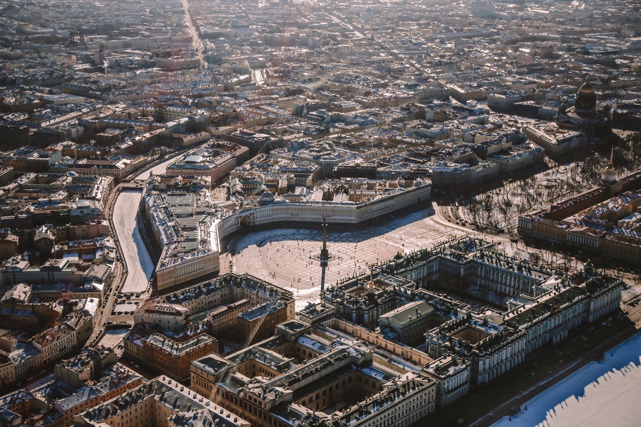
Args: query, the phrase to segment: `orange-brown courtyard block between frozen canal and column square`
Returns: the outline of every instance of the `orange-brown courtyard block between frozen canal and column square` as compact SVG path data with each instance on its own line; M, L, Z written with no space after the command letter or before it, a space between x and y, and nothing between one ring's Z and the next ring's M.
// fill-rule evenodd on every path
M226 274L141 306L124 354L184 380L192 360L219 351L222 344L213 337L246 346L270 337L277 324L294 316L291 292L253 276Z

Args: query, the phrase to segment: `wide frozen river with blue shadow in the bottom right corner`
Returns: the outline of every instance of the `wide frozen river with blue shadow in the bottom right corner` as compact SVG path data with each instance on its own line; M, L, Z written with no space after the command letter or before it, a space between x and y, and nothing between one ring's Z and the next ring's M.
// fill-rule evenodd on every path
M641 333L538 394L522 412L494 427L638 426L641 419ZM528 410L524 410L525 406Z

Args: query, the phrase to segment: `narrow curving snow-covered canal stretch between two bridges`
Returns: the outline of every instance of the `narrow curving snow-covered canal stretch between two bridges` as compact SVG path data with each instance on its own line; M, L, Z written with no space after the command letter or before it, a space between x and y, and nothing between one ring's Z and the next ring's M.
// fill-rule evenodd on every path
M113 206L113 225L128 271L122 292L144 292L154 271L154 264L140 236L136 221L141 198L140 191L123 191Z

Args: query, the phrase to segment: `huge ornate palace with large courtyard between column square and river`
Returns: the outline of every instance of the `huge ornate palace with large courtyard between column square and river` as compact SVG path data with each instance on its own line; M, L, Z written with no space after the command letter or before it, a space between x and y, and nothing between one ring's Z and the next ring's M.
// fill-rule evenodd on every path
M612 312L619 306L622 289L620 280L589 266L568 276L497 253L491 244L474 239L399 254L378 269L376 279L362 276L326 292L326 303L336 306L339 319L349 322L339 320L335 327L388 348L392 344L386 339L402 342L407 337L403 326L412 331L413 324L431 325L425 334L427 354L410 346L395 349L397 344L392 351L422 364L456 355L470 363L472 385L498 378L545 342L563 340L568 330ZM445 292L461 289L475 298L487 298L504 309L475 312L425 289L430 283ZM408 303L418 308L416 301L425 304L412 314Z

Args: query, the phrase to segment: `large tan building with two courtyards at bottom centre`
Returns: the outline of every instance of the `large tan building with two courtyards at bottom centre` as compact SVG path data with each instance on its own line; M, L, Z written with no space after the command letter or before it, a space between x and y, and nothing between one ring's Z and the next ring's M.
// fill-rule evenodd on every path
M337 331L300 321L285 322L276 336L224 358L193 362L191 380L196 392L215 394L224 408L261 425L406 426L436 404L436 381L394 358L383 363Z

